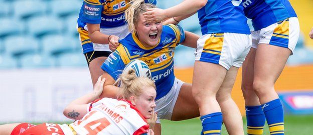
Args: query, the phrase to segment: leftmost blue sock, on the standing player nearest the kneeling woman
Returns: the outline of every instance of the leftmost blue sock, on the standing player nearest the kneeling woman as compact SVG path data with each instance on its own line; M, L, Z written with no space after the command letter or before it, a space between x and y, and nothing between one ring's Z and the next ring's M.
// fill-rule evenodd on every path
M208 134L221 134L223 116L222 112L215 112L200 117L202 122L203 135Z

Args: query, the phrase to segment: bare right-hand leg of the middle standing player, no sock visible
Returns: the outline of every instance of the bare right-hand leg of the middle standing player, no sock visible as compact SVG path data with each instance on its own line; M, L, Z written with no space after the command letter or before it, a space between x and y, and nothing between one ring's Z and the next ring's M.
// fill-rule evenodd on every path
M216 99L222 109L223 122L230 135L244 134L241 113L237 104L231 97L231 91L236 80L238 69L239 68L235 66L229 68L216 95Z

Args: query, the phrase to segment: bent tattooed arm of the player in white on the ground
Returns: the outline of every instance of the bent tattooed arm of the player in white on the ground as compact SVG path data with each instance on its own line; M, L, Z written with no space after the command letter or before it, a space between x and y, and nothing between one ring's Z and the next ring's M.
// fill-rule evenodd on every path
M105 78L99 76L98 81L94 85L93 92L87 93L84 96L81 96L73 100L68 104L63 110L63 114L71 119L81 119L87 113L87 106L89 102L99 98L103 90L103 84Z

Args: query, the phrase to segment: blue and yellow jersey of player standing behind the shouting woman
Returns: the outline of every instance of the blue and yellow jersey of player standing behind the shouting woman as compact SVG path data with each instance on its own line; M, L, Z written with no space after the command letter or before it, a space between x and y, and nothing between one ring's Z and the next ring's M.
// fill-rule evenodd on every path
M144 0L156 4L156 0ZM99 24L101 28L116 27L126 23L124 11L131 0L84 0L77 20L79 27L86 23Z

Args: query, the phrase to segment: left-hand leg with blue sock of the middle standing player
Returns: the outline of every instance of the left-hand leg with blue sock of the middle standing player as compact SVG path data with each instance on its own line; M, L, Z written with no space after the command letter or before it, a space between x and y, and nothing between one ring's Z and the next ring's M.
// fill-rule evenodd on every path
M221 132L223 118L216 93L226 72L227 69L219 64L195 61L192 93L199 105L204 134Z

